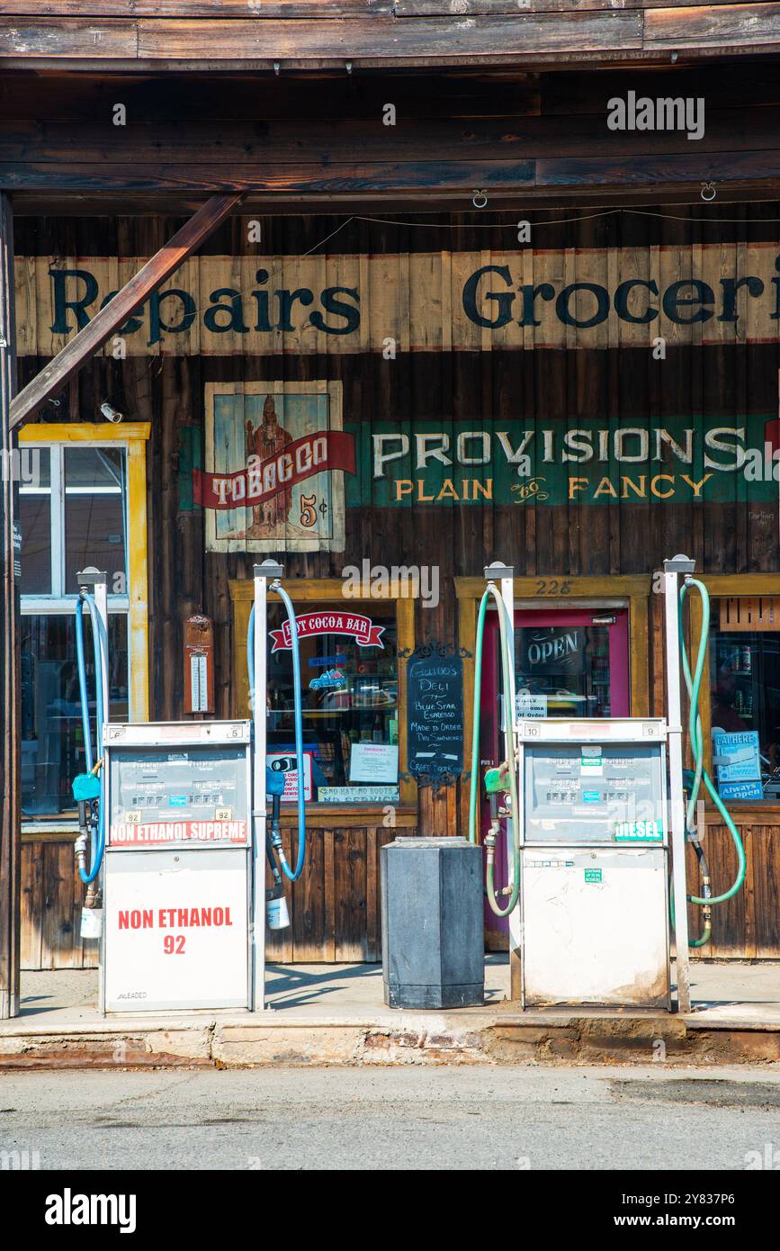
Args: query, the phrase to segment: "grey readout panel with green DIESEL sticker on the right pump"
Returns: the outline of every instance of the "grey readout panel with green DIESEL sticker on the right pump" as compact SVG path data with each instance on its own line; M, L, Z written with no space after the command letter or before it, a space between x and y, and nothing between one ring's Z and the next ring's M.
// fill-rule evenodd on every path
M664 841L660 743L525 746L528 842Z

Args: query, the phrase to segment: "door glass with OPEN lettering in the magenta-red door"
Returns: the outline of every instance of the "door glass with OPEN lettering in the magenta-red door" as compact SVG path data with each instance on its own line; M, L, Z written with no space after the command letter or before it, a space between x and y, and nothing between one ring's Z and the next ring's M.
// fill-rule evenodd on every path
M526 716L611 716L609 626L519 626L515 671Z

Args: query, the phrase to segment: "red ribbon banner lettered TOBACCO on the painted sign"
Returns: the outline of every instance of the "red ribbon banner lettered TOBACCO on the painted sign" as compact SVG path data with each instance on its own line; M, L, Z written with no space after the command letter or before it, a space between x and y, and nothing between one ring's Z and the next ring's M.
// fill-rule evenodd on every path
M201 508L242 508L271 499L315 473L355 473L355 438L342 430L305 434L268 460L255 459L236 473L192 472L192 495Z

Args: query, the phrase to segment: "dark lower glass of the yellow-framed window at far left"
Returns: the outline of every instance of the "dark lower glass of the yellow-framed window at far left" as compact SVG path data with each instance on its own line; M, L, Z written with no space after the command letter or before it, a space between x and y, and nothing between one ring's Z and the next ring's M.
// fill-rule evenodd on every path
M21 620L21 811L58 816L75 808L71 783L86 767L72 613ZM90 718L95 724L95 667L84 631ZM128 719L128 619L109 615L111 718ZM95 749L92 738L92 751Z

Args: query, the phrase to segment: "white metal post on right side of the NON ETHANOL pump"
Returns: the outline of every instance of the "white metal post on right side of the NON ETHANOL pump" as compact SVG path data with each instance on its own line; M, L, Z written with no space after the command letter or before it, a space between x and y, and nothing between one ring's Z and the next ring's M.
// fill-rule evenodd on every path
M275 582L284 577L284 565L275 560L264 560L252 568L255 579L255 691L252 698L252 722L255 736L254 751L254 796L252 796L252 933L254 933L254 967L252 967L252 1002L254 1011L261 1012L265 1008L265 834L268 822L266 789L265 789L265 756L266 756L266 717L268 709L265 696L268 691L268 590L269 580Z

